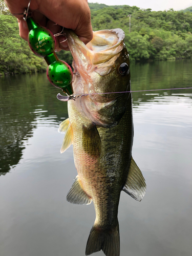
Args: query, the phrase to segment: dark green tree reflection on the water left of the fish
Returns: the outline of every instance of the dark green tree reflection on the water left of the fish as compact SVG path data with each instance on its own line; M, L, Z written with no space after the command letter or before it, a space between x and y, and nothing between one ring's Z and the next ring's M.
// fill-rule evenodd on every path
M58 90L46 74L10 76L0 82L0 174L6 174L19 162L24 142L37 125L58 125L67 117L67 104L58 102Z

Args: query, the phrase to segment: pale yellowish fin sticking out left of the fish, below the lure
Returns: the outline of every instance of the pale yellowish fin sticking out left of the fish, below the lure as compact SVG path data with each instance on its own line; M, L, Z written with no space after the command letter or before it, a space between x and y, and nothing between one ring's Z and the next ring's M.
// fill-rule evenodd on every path
M69 118L60 123L59 133L65 133L60 153L65 152L73 144L73 130Z

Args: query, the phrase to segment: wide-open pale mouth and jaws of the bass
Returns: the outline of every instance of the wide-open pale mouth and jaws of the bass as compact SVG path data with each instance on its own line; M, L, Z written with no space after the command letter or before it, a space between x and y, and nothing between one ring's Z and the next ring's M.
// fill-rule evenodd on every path
M117 55L123 49L124 32L121 29L93 32L93 39L87 45L84 45L72 30L66 30L65 34L75 69L80 75L114 57L117 59Z

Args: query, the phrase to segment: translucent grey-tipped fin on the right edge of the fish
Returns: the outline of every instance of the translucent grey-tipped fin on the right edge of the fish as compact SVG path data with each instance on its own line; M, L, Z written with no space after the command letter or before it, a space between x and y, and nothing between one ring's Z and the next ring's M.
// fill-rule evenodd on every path
M126 183L123 187L123 191L133 197L137 201L141 201L145 195L146 184L143 175L133 160L131 159L131 165Z

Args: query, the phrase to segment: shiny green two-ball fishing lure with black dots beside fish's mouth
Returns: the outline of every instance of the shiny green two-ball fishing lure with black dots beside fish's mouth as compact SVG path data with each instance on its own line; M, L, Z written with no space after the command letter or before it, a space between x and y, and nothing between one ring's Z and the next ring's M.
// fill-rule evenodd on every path
M26 20L29 29L29 47L37 56L43 57L47 62L47 77L50 83L68 95L62 96L58 94L60 98L62 98L62 101L68 101L69 99L75 100L76 97L73 96L72 87L73 71L68 63L63 60L59 60L55 53L55 36L60 35L63 29L60 33L54 36L49 29L39 26L29 13L30 3L31 1L29 2L28 8L23 13L24 20Z

